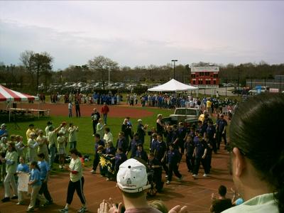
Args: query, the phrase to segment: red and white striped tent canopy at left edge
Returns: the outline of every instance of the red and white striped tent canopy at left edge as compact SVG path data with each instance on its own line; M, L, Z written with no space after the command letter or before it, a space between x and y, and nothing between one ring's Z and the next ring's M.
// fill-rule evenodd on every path
M27 102L38 100L38 97L8 89L0 84L0 102Z

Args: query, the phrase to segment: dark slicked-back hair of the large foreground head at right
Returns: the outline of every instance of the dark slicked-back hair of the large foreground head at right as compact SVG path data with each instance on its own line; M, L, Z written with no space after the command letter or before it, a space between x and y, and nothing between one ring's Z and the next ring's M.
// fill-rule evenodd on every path
M230 145L239 148L274 190L284 212L284 95L258 94L239 104L229 129Z

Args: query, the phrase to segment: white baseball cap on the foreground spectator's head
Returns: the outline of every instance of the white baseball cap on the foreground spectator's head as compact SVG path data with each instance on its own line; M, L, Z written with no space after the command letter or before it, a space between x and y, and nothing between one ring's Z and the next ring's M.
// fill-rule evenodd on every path
M116 181L119 188L124 192L142 192L151 187L151 185L147 185L146 166L133 158L121 163Z

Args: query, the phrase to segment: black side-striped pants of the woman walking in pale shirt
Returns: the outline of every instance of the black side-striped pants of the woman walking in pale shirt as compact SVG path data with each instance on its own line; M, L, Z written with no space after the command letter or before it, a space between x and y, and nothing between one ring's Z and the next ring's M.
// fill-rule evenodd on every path
M72 182L71 180L69 180L67 199L66 199L67 204L71 204L75 190L82 204L86 203L86 200L84 198L83 186L84 186L84 177L82 177L80 180L76 182Z

